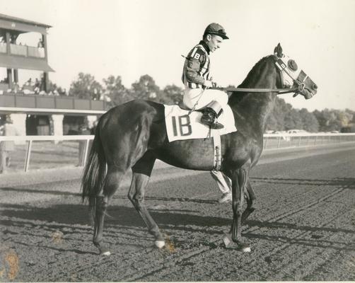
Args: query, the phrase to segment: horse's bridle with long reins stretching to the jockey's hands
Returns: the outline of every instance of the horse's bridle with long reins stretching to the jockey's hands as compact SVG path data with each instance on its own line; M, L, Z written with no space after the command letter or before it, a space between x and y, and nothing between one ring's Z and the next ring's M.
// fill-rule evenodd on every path
M226 91L226 92L243 92L243 93L277 93L277 95L281 95L284 93L294 93L293 97L297 96L301 91L304 90L305 88L305 79L307 79L307 75L303 72L304 77L301 80L294 79L293 76L289 73L289 69L287 65L284 63L284 61L277 56L277 54L274 54L274 60L275 60L275 65L277 66L277 69L279 70L279 74L281 76L281 85L284 86L284 74L289 76L292 81L293 85L296 86L294 88L223 88L223 87L213 87L211 89L217 89L219 91Z

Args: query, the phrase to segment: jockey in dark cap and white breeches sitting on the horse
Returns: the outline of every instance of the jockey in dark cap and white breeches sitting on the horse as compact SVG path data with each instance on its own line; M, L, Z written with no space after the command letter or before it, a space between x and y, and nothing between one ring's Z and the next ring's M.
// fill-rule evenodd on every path
M182 71L182 82L185 84L183 102L193 110L204 108L201 122L212 129L224 127L217 122L217 118L228 103L227 93L209 89L216 86L209 72L209 53L217 50L223 40L228 40L223 27L218 23L209 24L202 40L187 55Z

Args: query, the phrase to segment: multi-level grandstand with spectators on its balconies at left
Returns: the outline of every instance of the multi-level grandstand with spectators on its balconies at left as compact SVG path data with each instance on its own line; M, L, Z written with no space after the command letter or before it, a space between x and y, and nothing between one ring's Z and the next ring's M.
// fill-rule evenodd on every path
M54 71L48 64L49 28L44 23L0 13L0 68L6 69L6 77L0 79L0 125L5 115L11 115L13 125L23 135L75 134L85 121L93 122L105 111L103 100L48 93L49 72ZM18 42L18 36L24 33L38 33L35 46ZM42 71L40 81L29 79L19 86L21 69Z

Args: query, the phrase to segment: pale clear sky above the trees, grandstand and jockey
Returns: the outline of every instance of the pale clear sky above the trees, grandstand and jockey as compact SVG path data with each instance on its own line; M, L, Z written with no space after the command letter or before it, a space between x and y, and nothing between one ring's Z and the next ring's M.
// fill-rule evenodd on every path
M127 88L144 74L161 88L183 87L181 55L216 22L230 37L211 54L219 85L238 86L280 42L318 85L312 99L285 94L286 102L310 111L355 110L354 0L0 0L0 7L8 16L52 25L50 79L67 89L81 71L100 83L121 76Z

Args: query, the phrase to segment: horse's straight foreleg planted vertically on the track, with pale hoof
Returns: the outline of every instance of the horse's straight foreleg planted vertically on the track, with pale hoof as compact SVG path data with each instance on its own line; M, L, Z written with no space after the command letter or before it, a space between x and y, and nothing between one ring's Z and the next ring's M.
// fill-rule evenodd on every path
M238 244L238 248L243 251L250 251L248 243L243 241L242 230L242 212L245 185L248 180L248 170L240 168L233 173L232 178L232 194L233 194L233 223L232 223L232 239Z

